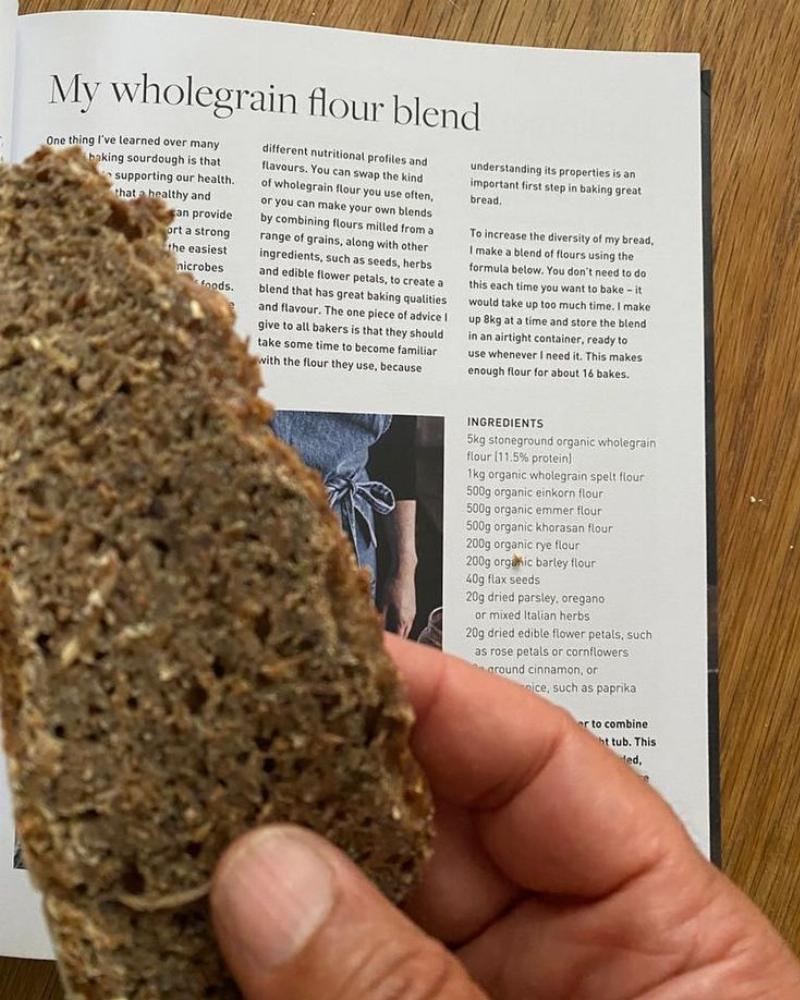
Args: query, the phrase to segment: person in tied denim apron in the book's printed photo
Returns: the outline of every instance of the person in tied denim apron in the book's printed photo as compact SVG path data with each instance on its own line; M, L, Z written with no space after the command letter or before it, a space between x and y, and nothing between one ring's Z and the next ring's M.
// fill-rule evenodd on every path
M279 410L276 435L316 469L389 631L405 638L416 617L416 418L385 413ZM378 533L388 552L377 593Z

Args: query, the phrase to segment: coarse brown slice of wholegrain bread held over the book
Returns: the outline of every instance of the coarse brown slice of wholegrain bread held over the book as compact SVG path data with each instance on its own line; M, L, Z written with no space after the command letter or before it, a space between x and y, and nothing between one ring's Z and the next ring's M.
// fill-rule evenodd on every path
M168 210L78 150L0 172L0 681L67 995L235 997L207 889L305 824L392 899L430 803L368 585Z

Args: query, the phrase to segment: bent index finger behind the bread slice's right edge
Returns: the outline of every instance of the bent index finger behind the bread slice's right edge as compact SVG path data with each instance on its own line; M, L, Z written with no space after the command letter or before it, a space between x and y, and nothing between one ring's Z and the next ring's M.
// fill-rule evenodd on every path
M694 851L667 804L563 709L430 647L386 637L434 793L472 811L497 867L534 892L605 896Z

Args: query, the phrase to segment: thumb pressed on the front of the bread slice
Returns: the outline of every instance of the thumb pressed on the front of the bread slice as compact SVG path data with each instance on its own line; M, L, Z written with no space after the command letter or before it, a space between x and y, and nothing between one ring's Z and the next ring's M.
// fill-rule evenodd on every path
M229 848L211 909L247 1000L486 1000L344 854L298 827L262 827Z

